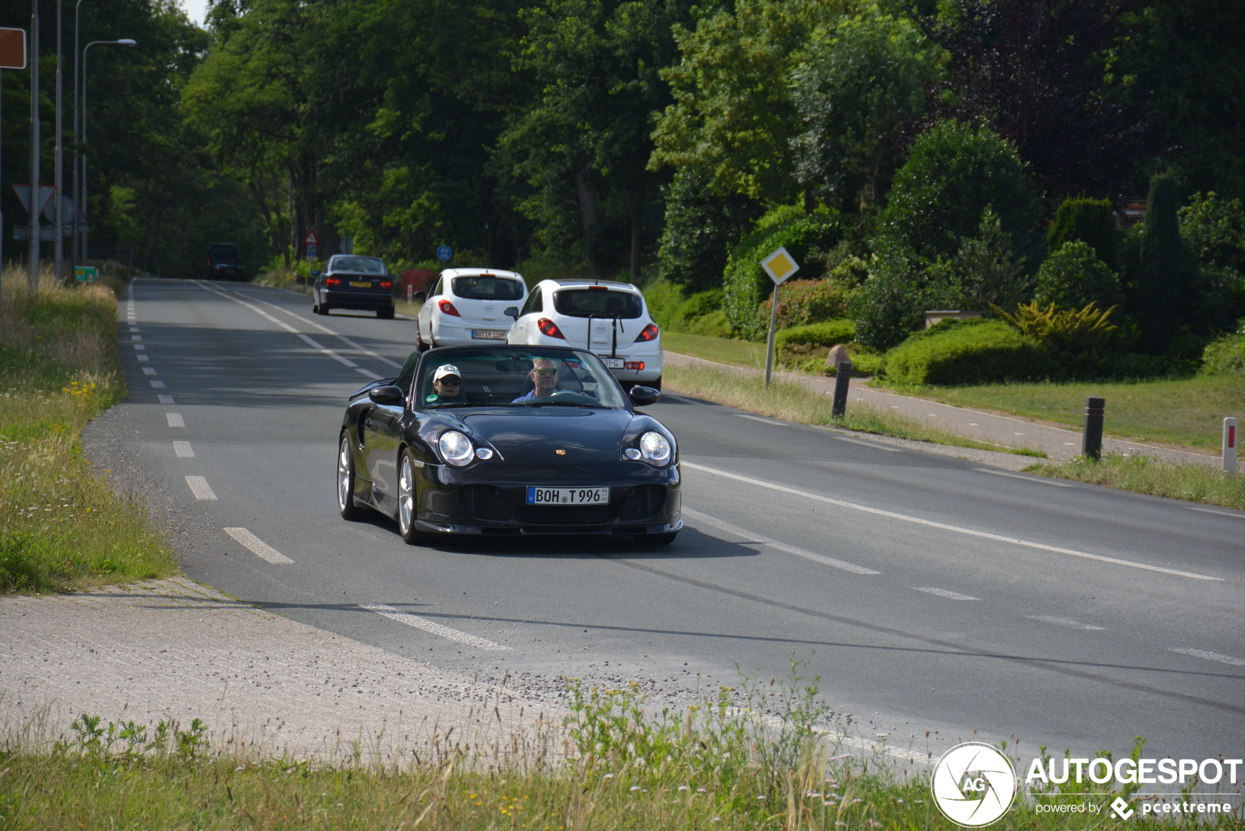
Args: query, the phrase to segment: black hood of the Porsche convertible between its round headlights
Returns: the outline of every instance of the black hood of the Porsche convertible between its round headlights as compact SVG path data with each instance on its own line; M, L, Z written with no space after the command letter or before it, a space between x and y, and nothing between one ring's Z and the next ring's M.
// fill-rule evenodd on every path
M458 416L508 462L619 461L624 436L632 432L627 410L544 406L489 410ZM557 451L565 450L565 455Z

